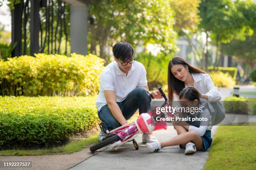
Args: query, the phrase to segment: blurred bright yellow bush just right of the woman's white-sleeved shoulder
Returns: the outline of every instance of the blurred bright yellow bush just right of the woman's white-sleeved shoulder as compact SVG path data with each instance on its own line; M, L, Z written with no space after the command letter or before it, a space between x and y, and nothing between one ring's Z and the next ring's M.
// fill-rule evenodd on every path
M228 73L218 71L210 72L209 75L216 87L233 87L235 85L235 81Z

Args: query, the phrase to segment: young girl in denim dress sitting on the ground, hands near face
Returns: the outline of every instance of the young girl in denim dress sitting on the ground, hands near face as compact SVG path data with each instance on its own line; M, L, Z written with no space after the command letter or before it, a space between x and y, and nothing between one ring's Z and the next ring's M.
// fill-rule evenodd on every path
M206 151L212 143L211 128L212 120L210 112L200 103L200 93L195 87L185 87L179 94L179 99L183 107L192 110L197 107L199 110L194 114L185 113L184 117L191 117L186 123L173 123L178 136L164 141L146 143L148 151L154 153L166 146L179 145L185 148L185 154L195 153L197 150ZM192 118L204 118L204 121L192 121ZM207 118L207 120L206 120Z

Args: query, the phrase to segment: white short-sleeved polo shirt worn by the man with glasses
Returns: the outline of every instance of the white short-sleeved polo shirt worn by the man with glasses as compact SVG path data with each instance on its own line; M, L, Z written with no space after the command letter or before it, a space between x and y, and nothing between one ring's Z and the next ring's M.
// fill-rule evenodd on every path
M98 110L107 105L104 90L113 90L116 95L116 102L122 102L127 95L136 87L143 87L148 84L145 67L140 62L133 62L131 70L126 75L113 61L104 68L100 75L100 92L96 100Z

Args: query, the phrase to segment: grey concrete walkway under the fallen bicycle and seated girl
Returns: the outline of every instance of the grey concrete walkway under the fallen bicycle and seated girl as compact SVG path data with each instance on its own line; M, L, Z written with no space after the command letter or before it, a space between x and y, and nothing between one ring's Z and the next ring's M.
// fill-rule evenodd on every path
M217 126L212 128L212 135L216 132ZM173 126L167 130L154 132L160 141L168 140L177 135ZM204 168L209 152L197 152L193 155L184 155L184 149L179 146L166 147L158 153L148 153L146 145L141 141L141 135L136 137L140 149L135 150L133 144L126 143L118 150L106 149L87 160L79 163L70 170L166 170L166 169L196 169Z

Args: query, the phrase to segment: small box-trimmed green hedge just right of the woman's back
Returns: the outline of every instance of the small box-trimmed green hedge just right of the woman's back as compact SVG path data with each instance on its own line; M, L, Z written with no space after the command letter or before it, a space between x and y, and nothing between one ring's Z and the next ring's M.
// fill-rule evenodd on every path
M245 97L226 97L223 105L226 113L248 114L247 98Z

